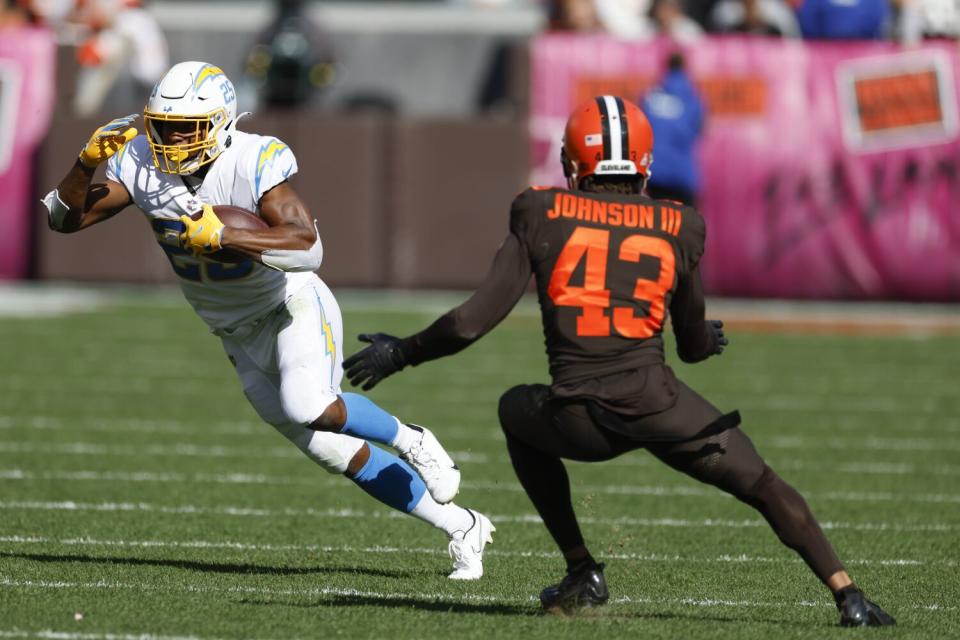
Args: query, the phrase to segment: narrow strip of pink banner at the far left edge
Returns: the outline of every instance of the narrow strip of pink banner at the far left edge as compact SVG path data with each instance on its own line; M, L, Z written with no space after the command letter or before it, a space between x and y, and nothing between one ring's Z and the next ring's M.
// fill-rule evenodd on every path
M0 35L0 278L22 278L30 266L34 152L50 123L55 52L46 29Z

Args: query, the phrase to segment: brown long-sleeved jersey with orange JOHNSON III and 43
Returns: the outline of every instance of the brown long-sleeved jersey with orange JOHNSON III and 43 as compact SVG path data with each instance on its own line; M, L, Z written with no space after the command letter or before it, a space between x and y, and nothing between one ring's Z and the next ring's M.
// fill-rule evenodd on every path
M594 398L626 415L662 411L676 399L663 365L667 310L683 360L716 347L697 268L704 233L696 209L668 201L527 189L477 291L400 348L413 365L460 351L506 317L534 275L554 397Z

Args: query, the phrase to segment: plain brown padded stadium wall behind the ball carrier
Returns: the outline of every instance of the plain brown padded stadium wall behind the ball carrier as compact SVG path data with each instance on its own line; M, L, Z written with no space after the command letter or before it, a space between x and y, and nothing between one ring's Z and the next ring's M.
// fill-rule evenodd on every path
M70 86L61 50L59 86ZM71 115L64 91L37 162L38 193L55 185L90 132L116 117ZM265 111L242 121L297 155L292 183L320 222L321 275L334 285L469 288L507 232L510 202L529 171L527 127L483 118ZM98 174L99 175L99 174ZM135 209L79 234L37 221L41 280L174 282Z

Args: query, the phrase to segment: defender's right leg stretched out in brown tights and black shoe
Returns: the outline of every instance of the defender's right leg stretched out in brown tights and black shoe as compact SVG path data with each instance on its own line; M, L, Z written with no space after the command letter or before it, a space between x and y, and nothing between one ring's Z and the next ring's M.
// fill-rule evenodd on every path
M705 436L650 445L651 453L678 471L726 491L759 511L780 541L797 552L834 594L843 615L842 623L847 618L863 618L862 624L893 624L892 618L862 597L806 500L764 463L746 434L735 424L708 433L710 425L730 426L723 424L725 419L729 421L728 416L722 416L683 383L679 384L675 411L685 419L699 415L698 423L707 425ZM665 417L671 419L674 418ZM846 603L848 597L850 602Z

